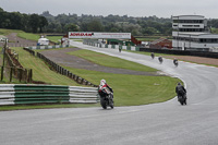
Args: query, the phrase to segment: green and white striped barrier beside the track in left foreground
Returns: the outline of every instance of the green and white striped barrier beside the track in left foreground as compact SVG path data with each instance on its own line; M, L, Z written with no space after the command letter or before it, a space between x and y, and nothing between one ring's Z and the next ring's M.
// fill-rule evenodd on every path
M28 104L96 104L97 87L1 84L0 106Z

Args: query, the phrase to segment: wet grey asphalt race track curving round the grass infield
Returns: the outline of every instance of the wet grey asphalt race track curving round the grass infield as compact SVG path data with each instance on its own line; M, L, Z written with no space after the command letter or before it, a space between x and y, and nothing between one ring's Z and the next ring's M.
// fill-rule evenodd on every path
M71 45L138 62L180 77L187 106L167 102L101 108L41 109L0 112L2 145L217 145L218 69L136 55L117 49ZM114 96L116 97L116 96Z

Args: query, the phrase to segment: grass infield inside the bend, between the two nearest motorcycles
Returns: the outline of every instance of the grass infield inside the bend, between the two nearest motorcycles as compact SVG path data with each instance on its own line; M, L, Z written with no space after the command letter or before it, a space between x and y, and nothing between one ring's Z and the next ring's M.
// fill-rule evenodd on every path
M175 96L174 87L178 78L169 76L145 76L111 74L65 67L94 84L101 78L113 88L116 106L138 106L169 100Z

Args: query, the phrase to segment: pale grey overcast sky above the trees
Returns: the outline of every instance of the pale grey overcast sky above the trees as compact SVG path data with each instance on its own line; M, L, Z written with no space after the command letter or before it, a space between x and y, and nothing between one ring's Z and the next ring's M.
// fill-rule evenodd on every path
M58 14L129 15L171 17L196 14L218 19L218 0L0 0L8 12Z

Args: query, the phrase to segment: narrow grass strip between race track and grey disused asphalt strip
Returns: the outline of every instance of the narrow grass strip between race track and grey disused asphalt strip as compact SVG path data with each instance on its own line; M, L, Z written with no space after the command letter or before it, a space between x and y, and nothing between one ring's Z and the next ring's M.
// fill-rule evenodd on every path
M94 52L90 50L77 50L68 52L69 55L73 55L83 59L86 59L88 61L92 61L94 63L110 67L110 68L121 68L121 69L128 69L128 70L134 70L134 71L144 71L144 72L156 72L156 69L145 67L132 61L123 60L116 57L110 57L104 53Z

